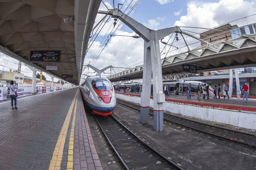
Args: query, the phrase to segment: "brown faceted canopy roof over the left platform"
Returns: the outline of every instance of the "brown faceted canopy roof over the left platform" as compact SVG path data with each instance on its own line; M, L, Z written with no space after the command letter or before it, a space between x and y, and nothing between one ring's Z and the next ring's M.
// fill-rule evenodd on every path
M0 52L47 74L79 84L101 0L0 0ZM74 20L64 22L64 17ZM87 24L86 24L87 23ZM61 50L60 62L29 62L30 51ZM46 71L46 66L58 70ZM62 78L66 81L68 79Z

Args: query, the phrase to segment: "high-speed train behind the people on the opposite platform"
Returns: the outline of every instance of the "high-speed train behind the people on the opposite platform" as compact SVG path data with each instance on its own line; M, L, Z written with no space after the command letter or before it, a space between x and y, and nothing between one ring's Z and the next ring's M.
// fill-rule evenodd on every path
M204 84L208 85L207 83L205 82L200 82L200 81L183 81L183 80L177 80L175 82L163 82L163 85L170 85L170 94L171 95L174 95L174 86L176 85L176 87L178 87L178 92L176 93L176 95L187 95L186 93L186 90L187 90L187 87L189 85L189 83L191 83L191 94L192 96L195 96L195 95L199 95L198 94L198 89L197 89L197 86L198 86L198 83L201 84L202 88L204 88ZM151 83L152 84L152 83ZM123 91L124 90L124 86L126 86L126 88L130 88L131 86L136 86L136 88L138 86L140 86L140 92L142 92L142 83L128 83L128 84L121 84L121 85L117 85L119 86L119 89L120 91ZM214 92L214 88L212 88L212 86L209 85L209 96L210 97L214 97L215 94L213 93ZM203 95L203 93L201 93L201 96ZM216 94L218 96L218 94Z

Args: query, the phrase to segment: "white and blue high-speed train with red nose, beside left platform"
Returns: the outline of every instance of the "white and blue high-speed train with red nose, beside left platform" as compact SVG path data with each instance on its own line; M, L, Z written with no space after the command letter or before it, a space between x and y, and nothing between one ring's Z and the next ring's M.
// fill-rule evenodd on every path
M81 85L82 95L93 114L108 116L116 107L112 83L105 77L91 76Z

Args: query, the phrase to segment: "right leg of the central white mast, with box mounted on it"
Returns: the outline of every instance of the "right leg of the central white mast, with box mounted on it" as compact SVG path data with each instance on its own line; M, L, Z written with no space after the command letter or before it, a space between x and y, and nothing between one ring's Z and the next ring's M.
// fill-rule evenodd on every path
M154 130L163 131L163 102L165 102L165 95L163 94L162 67L157 31L151 32L150 42L153 73Z

